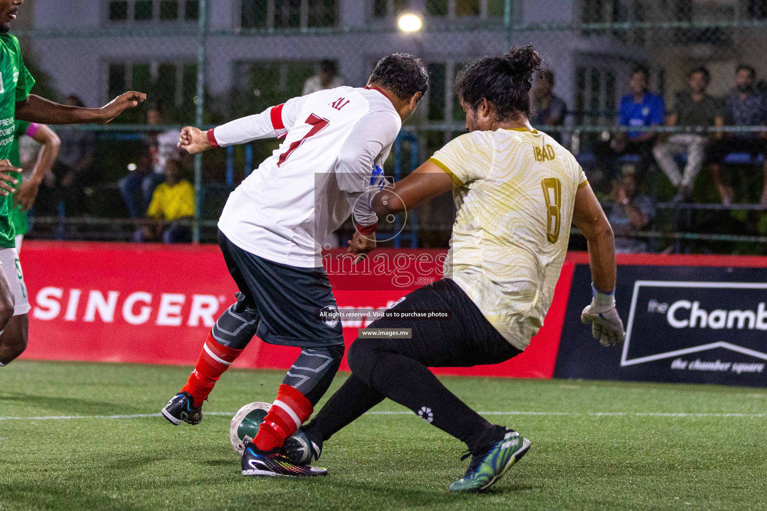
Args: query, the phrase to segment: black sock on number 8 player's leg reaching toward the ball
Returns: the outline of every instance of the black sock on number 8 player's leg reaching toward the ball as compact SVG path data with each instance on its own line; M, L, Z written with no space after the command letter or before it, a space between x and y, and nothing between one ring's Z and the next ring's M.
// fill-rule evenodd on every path
M326 441L381 401L384 401L383 395L351 375L305 428Z

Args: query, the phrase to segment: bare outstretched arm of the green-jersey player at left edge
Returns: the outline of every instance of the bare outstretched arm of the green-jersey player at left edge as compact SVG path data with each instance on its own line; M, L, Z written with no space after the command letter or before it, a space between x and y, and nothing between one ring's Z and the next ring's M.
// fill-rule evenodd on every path
M30 94L16 103L16 119L41 124L106 124L129 108L146 100L146 94L130 92L120 94L101 108L67 106Z

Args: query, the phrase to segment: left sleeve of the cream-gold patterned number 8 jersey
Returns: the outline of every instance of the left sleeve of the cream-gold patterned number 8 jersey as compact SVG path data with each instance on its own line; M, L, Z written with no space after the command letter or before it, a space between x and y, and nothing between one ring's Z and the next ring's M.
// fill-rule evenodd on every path
M430 162L443 169L456 186L486 177L492 165L492 148L482 132L466 133L434 153Z

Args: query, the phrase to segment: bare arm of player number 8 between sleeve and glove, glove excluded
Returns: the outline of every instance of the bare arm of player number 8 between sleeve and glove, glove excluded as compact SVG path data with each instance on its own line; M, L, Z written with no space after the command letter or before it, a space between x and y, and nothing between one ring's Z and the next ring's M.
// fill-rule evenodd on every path
M612 293L617 273L615 237L590 185L584 186L575 195L573 224L588 241L591 280L594 286L597 290Z

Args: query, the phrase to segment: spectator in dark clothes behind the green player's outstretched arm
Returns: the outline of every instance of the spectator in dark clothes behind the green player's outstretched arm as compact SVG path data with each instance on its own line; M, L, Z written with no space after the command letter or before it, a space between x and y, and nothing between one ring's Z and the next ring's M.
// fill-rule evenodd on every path
M74 94L67 97L64 103L67 106L85 106ZM96 164L96 134L87 129L65 126L58 129L58 137L61 139L58 158L42 182L36 209L38 213L55 213L58 212L58 205L63 204L65 215L83 215L83 188L93 176Z

